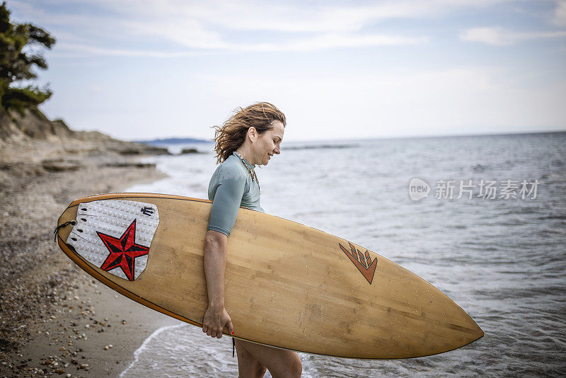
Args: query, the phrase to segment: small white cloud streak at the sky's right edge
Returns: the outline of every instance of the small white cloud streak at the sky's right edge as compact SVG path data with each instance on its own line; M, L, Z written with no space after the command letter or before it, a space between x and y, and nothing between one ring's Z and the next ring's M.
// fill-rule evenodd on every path
M501 27L471 28L460 35L460 40L469 42L482 42L487 45L504 46L513 45L524 40L538 40L545 38L564 38L565 31L554 32L515 32Z

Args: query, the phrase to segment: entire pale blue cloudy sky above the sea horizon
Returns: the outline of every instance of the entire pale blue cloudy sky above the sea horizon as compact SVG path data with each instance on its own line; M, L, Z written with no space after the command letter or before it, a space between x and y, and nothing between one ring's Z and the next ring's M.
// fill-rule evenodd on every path
M211 138L274 103L285 139L566 130L566 1L7 1L49 31L76 130Z

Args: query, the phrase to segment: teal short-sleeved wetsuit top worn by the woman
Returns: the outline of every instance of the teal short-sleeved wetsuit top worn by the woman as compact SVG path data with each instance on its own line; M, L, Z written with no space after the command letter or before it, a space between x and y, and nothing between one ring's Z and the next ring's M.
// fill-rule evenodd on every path
M250 170L254 169L248 161L245 164ZM216 167L208 185L208 199L212 200L208 229L226 236L230 236L240 207L263 212L260 185L252 181L236 151Z

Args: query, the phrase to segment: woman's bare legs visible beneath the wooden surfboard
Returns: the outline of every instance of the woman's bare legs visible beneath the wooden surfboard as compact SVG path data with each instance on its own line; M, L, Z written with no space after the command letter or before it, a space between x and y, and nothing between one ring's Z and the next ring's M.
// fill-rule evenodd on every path
M303 365L296 352L236 339L241 378L263 377L265 368L273 378L301 377Z

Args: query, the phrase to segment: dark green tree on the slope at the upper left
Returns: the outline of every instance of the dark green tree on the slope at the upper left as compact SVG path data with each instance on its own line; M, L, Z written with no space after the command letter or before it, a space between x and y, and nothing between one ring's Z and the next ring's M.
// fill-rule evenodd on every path
M30 23L11 23L6 1L0 6L0 106L12 108L21 114L26 108L37 107L50 98L49 88L25 86L18 88L14 83L37 78L34 67L47 69L40 49L54 45L55 39L42 28ZM25 46L28 49L23 52Z

